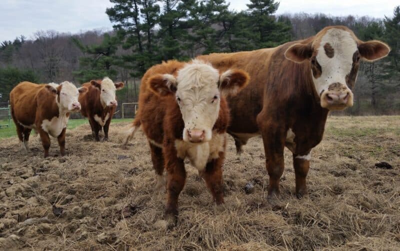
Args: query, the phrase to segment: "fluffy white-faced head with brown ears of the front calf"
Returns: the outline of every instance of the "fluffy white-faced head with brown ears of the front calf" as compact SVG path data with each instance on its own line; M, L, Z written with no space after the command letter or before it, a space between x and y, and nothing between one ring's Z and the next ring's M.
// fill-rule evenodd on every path
M183 140L201 143L211 140L212 127L219 115L221 91L235 93L248 82L247 73L218 70L202 61L193 60L177 72L156 75L150 88L161 95L174 93L184 121Z

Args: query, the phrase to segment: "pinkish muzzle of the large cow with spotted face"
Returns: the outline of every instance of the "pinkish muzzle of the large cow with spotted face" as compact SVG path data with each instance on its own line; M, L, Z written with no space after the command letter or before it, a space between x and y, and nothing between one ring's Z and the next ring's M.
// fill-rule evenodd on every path
M320 95L321 107L342 110L353 105L353 93L341 83L330 84Z

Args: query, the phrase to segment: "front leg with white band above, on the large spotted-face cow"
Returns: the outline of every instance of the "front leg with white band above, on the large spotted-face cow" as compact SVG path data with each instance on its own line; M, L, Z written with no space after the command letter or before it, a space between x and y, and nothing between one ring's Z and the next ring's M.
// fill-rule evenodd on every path
M306 177L309 170L311 151L304 154L293 154L293 168L296 178L296 196L301 198L308 194Z

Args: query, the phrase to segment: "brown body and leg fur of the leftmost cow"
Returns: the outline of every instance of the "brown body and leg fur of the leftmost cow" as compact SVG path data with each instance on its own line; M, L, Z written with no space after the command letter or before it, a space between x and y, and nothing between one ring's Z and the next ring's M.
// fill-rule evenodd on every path
M59 93L62 86L57 90L47 88L45 84L34 84L30 82L21 82L10 92L11 117L15 123L16 133L19 141L27 142L29 140L30 128L26 126L34 125L35 130L40 135L44 149L44 157L48 156L50 148L50 137L48 133L41 128L42 121L51 120L59 116L58 106L55 103L55 97L59 100ZM69 116L69 113L67 113ZM25 125L22 126L21 124ZM61 156L65 154L65 128L57 137Z

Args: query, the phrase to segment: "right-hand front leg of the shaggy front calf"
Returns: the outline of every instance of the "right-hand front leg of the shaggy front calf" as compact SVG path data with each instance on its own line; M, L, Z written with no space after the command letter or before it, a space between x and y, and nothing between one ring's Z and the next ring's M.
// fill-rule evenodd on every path
M211 192L218 211L223 210L222 164L224 155L224 152L220 152L217 159L212 159L207 163L203 172L205 184Z

